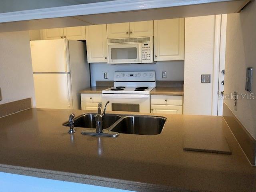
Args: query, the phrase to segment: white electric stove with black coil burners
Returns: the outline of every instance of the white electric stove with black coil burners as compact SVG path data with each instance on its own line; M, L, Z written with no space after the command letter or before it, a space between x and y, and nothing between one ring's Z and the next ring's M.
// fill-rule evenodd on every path
M154 71L117 71L114 87L102 91L103 106L108 111L150 113L150 91L156 86Z

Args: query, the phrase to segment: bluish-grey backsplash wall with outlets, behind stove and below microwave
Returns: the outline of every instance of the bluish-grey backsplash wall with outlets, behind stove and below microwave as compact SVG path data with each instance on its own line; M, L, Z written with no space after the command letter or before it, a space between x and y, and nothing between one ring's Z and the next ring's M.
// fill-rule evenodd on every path
M184 80L184 61L158 61L156 64L106 64L91 63L91 82L96 86L96 80L114 80L115 71L156 71L156 80L178 81ZM166 78L162 78L162 71L166 71ZM104 72L108 79L104 79Z

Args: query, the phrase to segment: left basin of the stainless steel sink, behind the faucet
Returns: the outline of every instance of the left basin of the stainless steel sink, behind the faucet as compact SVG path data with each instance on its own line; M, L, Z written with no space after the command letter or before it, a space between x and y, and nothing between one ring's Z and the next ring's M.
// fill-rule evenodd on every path
M74 118L74 127L83 127L83 128L96 128L96 122L94 115L96 113L84 114ZM121 118L119 115L115 114L105 114L103 117L103 128L108 129L112 124L118 121ZM69 122L66 122L64 126L69 126Z

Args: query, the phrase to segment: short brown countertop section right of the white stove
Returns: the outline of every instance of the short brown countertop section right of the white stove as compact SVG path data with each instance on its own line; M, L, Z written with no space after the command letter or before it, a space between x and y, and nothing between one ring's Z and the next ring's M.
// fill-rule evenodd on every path
M183 87L156 87L150 91L150 95L183 95Z

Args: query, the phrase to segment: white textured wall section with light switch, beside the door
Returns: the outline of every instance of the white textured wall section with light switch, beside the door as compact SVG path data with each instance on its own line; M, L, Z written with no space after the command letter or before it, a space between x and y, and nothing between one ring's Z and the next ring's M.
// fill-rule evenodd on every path
M212 115L215 18L185 19L184 114ZM211 83L201 83L201 74L211 74Z

